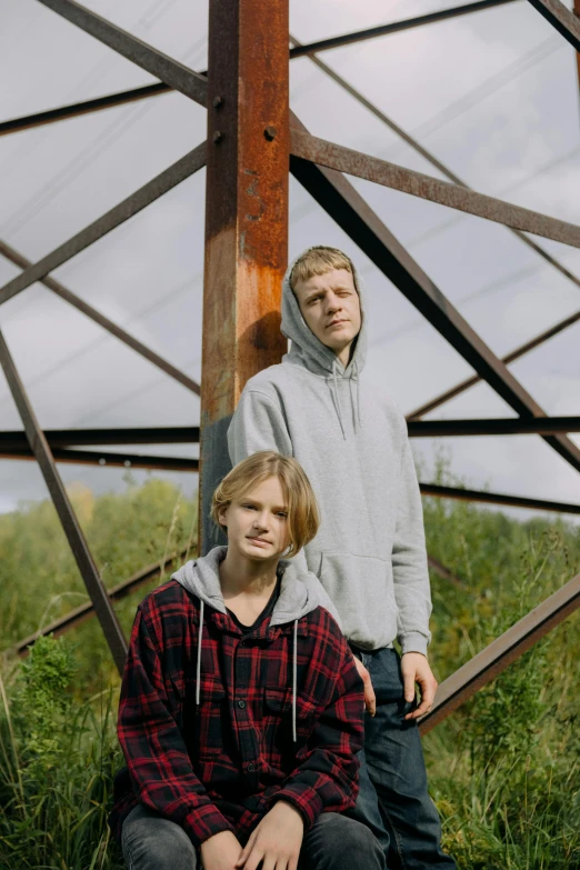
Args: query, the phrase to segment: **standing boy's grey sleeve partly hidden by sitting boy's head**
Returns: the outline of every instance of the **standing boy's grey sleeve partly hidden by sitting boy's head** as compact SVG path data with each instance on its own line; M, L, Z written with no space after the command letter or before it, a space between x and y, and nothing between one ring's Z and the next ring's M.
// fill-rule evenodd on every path
M246 388L228 429L228 449L233 466L260 450L293 456L292 441L279 403L261 390ZM303 550L291 561L299 573L308 571Z

